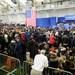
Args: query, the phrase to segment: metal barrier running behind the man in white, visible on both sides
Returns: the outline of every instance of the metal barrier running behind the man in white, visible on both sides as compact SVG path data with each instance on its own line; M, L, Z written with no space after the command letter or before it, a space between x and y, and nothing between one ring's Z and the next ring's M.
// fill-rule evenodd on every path
M23 75L30 75L30 70L31 70L31 65L29 62L24 61L23 62ZM57 68L52 68L48 67L44 69L43 75L73 75L71 72L57 69Z

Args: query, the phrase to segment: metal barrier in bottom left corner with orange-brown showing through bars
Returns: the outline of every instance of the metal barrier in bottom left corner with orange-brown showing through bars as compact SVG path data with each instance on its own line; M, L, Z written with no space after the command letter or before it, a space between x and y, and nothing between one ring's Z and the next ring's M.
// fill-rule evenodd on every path
M0 53L0 71L5 72L6 75L21 75L20 60Z

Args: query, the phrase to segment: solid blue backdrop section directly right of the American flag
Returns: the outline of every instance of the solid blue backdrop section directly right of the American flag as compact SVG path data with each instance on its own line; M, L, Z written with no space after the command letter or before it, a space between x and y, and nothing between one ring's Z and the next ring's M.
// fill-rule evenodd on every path
M56 17L51 18L37 18L36 19L37 27L45 27L45 28L54 28L56 26Z

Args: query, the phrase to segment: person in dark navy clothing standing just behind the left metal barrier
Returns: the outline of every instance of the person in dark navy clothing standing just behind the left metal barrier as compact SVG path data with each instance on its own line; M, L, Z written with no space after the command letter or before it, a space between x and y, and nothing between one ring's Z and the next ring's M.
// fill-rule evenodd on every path
M24 55L25 55L24 46L19 35L15 37L15 40L16 40L16 48L14 50L15 57L19 59L22 63L24 60Z

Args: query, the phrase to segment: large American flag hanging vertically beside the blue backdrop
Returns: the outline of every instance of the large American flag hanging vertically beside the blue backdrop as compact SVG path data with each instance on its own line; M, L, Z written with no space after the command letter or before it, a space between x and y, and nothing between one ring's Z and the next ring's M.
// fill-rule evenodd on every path
M35 9L26 10L26 25L36 27L36 11Z

